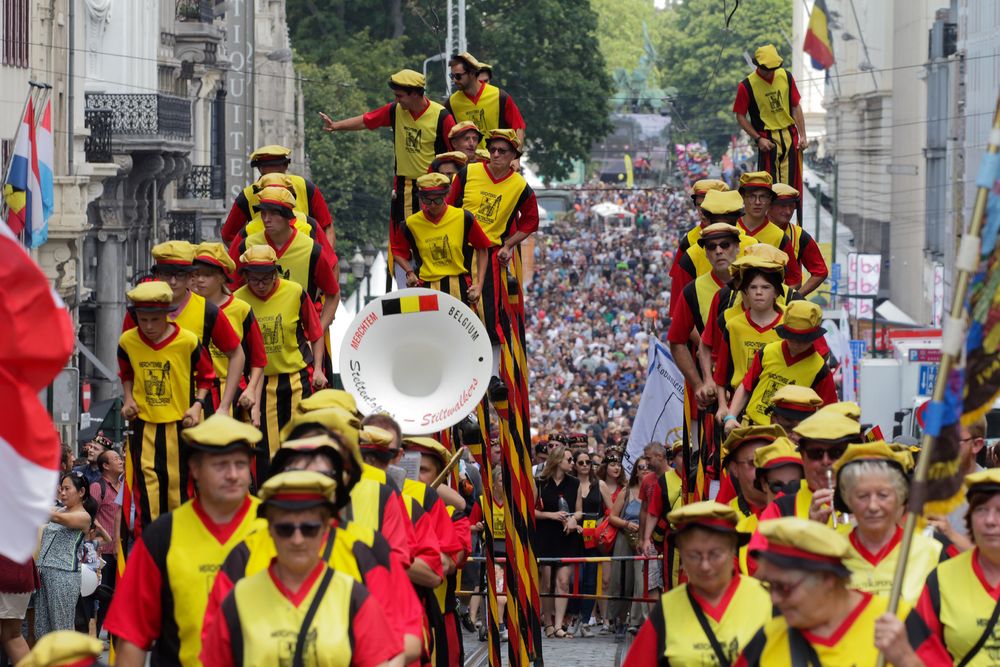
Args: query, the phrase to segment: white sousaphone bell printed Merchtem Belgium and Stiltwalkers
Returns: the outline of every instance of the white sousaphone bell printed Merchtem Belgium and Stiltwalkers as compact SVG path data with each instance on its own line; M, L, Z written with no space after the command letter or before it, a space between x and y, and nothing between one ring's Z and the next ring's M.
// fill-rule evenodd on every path
M475 411L490 380L486 327L455 297L422 287L372 301L340 347L344 388L364 414L384 412L425 435Z

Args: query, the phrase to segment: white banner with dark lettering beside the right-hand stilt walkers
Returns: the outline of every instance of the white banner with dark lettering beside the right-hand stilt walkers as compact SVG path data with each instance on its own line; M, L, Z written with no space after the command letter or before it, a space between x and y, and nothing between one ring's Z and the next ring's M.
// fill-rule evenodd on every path
M677 433L680 433L683 425L684 376L677 368L670 350L663 343L651 338L646 385L642 388L639 408L622 461L625 474L632 474L632 465L642 456L642 450L646 445L651 442L669 445L670 443L665 441L670 432L677 430Z

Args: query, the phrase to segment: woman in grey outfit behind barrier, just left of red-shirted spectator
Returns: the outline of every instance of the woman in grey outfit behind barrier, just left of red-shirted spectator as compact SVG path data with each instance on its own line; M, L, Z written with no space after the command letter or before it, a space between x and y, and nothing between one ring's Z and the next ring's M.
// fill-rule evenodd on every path
M628 485L618 494L611 507L611 525L618 529L612 556L630 558L639 554L639 515L642 511L639 488L642 486L642 480L651 474L653 472L649 460L645 456L636 459ZM642 561L612 561L611 586L608 589L611 591L611 597L641 596L642 570ZM643 619L643 604L612 599L608 605L608 619L614 622L616 631L624 628L627 622L630 630L638 632Z

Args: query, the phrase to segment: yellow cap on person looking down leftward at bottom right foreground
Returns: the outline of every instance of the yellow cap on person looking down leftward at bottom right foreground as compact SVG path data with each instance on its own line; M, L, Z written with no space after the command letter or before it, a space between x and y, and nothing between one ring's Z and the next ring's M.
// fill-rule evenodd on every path
M851 574L843 564L851 543L825 523L781 517L761 521L757 531L767 540L764 549L751 551L758 560L793 570L825 570L844 578Z

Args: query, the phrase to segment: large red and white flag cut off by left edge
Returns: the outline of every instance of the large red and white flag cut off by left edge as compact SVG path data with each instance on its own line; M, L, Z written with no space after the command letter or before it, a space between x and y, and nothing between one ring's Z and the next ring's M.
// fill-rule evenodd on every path
M38 393L73 351L69 312L0 220L0 555L24 562L38 546L59 482L61 445Z

